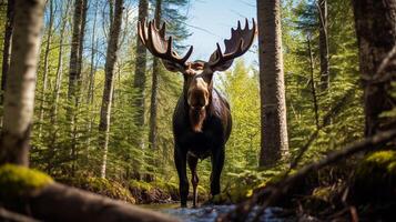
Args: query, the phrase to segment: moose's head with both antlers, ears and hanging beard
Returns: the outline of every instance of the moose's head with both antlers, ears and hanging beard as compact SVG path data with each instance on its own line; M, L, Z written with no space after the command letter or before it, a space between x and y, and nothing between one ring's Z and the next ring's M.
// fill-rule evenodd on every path
M172 72L181 72L184 75L184 95L190 105L190 121L192 130L201 132L205 109L211 102L213 90L213 73L227 70L235 58L244 54L253 43L256 24L253 20L250 29L247 19L244 29L237 22L236 29L231 29L231 39L224 40L225 51L220 44L212 53L209 61L189 61L193 52L191 46L184 57L180 57L172 48L172 37L165 38L165 22L156 29L155 21L139 22L139 37L150 52L162 59L164 67Z

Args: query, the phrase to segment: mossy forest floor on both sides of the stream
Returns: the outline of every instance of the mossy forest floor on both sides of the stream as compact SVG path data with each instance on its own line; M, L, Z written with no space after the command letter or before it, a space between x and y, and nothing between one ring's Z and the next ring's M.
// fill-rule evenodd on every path
M293 175L298 171L291 171ZM265 180L244 178L244 182L224 185L223 192L210 202L241 204L263 189L277 184L281 173ZM128 184L100 178L58 179L59 182L133 204L175 203L180 200L177 184L131 180ZM396 210L396 151L379 151L363 160L348 159L314 171L298 180L271 206L281 206L285 216L337 221L392 221ZM200 203L209 193L199 189ZM265 202L262 196L255 204ZM281 215L282 218L282 215ZM315 221L314 220L314 221Z

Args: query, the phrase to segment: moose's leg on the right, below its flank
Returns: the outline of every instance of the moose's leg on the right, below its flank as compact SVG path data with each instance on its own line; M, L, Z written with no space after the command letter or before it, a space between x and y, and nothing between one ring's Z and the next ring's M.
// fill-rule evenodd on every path
M220 175L224 165L224 148L212 152L211 194L220 193Z

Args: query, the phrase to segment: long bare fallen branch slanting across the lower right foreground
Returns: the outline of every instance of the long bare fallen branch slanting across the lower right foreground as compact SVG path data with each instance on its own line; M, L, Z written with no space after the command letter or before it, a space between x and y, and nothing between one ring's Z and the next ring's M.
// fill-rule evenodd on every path
M241 203L234 211L229 212L227 214L221 215L216 219L217 222L223 221L245 221L247 214L252 211L253 206L266 196L263 205L260 208L260 211L256 214L256 218L260 216L264 210L274 204L282 195L284 195L291 186L293 186L297 181L305 178L308 173L317 171L324 167L344 160L362 151L374 151L376 147L385 144L390 140L396 138L396 129L379 132L374 137L366 138L362 141L354 142L339 151L329 153L326 158L314 162L309 165L302 168L297 173L290 175L288 178L283 179L282 181L267 185L256 192L250 200Z

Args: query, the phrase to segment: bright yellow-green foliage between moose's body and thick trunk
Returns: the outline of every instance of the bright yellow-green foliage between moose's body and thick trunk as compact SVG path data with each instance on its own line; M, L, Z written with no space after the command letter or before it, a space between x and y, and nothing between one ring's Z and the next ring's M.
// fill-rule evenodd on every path
M233 130L226 144L227 172L257 168L260 149L260 95L257 71L237 60L232 71L222 75L223 91L229 99Z

